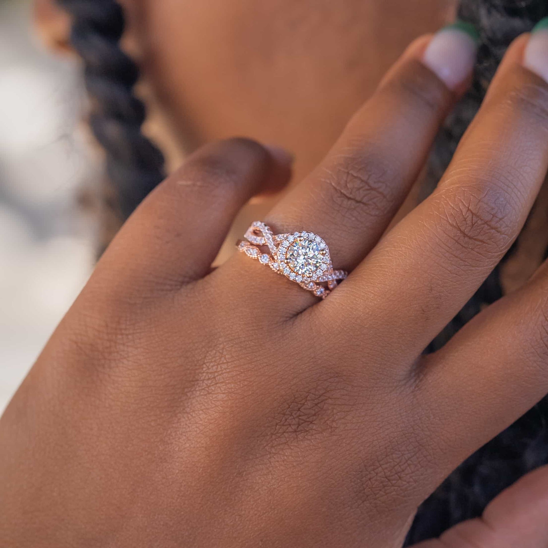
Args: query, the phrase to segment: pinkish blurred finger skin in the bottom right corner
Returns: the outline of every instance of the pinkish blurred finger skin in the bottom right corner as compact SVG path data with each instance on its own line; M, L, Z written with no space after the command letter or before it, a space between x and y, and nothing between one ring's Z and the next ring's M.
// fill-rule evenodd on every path
M544 548L548 545L548 466L523 476L485 509L441 538L413 548Z

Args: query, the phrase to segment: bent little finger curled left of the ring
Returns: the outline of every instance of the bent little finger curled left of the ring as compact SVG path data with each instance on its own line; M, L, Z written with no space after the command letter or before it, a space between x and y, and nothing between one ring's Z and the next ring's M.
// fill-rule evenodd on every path
M193 153L141 204L98 265L132 290L178 288L206 275L244 203L285 185L290 155L248 139ZM111 275L112 276L112 275Z

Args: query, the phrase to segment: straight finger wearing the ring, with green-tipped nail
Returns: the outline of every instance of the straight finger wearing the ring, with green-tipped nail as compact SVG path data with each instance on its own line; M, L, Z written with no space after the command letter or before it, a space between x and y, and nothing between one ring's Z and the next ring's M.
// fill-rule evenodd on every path
M469 78L475 48L469 34L455 29L413 43L326 159L266 223L277 233L317 233L335 268L352 269L378 241L417 178L439 125ZM295 293L309 299L305 292Z

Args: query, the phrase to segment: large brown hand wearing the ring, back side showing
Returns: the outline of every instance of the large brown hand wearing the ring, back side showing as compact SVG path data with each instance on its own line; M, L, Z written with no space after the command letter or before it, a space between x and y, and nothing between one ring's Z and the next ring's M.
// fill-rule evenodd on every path
M421 61L429 40L265 219L318 233L352 271L326 300L243 254L210 272L242 204L287 181L280 153L209 145L142 203L0 424L0 545L395 548L442 479L544 396L546 265L421 356L545 178L548 84L523 66L528 37L438 189L381 238L463 88ZM539 533L520 548L548 540L530 501Z

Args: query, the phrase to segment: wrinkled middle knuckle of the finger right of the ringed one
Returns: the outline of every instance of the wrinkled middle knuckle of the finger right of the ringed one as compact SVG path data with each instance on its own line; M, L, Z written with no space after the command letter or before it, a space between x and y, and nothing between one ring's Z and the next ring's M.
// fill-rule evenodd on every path
M503 254L516 236L516 198L500 185L459 186L438 196L443 233L459 248L482 258Z

